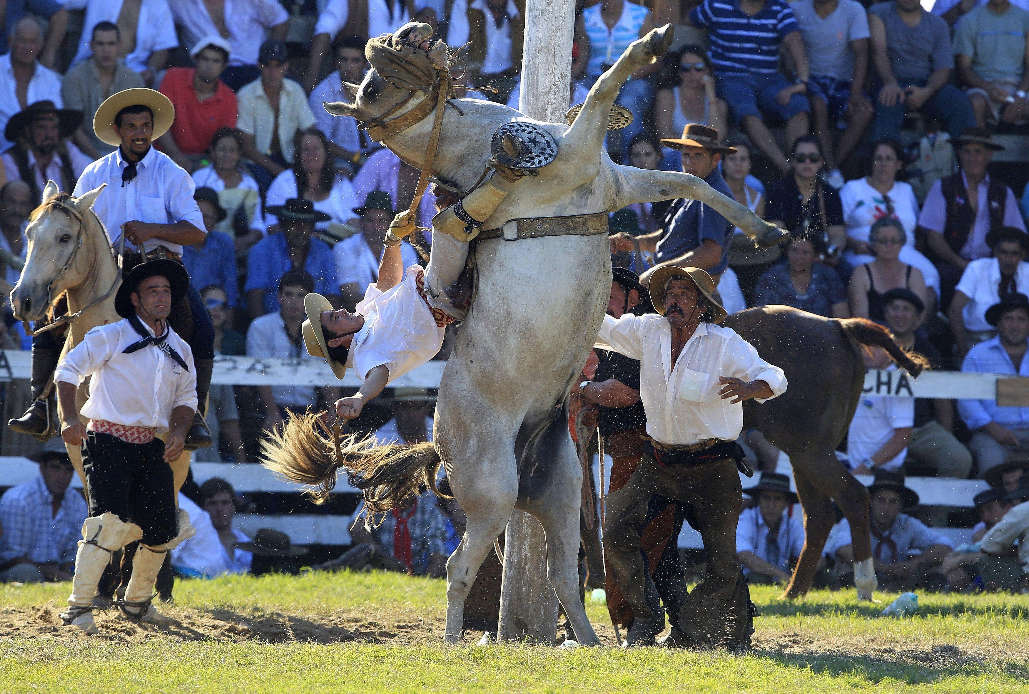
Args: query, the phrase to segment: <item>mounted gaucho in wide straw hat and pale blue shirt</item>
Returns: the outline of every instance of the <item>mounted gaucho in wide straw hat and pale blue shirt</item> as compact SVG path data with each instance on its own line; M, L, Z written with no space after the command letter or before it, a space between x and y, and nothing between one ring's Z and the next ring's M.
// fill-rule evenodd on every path
M117 149L86 167L75 185L74 196L103 187L93 213L103 223L114 248L123 249L126 242L137 247L136 252L123 253L123 272L156 259L170 259L181 266L182 247L202 242L206 233L189 174L150 144L167 133L174 120L171 101L147 88L112 95L100 105L93 119L97 137ZM61 209L67 211L66 206ZM185 298L173 306L170 321L186 339L196 363L200 404L185 444L197 448L211 445L204 412L214 365L214 329L197 290L188 287ZM60 314L60 309L56 313ZM49 381L61 356L69 318L58 317L57 325L50 324L52 328L37 322L32 339L34 400L23 416L7 423L16 432L43 440L49 436Z

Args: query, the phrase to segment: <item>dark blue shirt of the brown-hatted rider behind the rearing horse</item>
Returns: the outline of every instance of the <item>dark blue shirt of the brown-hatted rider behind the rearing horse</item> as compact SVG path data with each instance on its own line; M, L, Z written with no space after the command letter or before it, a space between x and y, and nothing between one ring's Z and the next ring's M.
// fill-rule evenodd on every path
M725 179L721 177L718 167L712 169L704 180L730 199L736 199ZM729 266L729 245L733 242L733 225L729 220L713 208L690 198L676 200L666 213L666 219L669 214L672 215L672 219L666 226L665 235L658 242L655 253L658 262L677 258L699 247L705 239L711 239L721 246L721 260L709 268L708 272L711 275L724 272Z

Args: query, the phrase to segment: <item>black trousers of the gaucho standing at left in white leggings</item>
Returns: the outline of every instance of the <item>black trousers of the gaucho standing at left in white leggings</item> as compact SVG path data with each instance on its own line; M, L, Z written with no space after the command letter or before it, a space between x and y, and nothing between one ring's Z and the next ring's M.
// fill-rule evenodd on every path
M179 534L175 479L165 462L165 443L129 443L88 432L82 467L90 491L90 515L110 511L143 531L143 544L155 547Z

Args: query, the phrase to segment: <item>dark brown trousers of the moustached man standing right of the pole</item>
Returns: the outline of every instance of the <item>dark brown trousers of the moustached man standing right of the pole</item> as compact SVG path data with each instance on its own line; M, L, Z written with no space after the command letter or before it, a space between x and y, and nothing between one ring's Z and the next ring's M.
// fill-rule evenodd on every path
M736 462L659 465L644 454L632 477L607 498L604 539L614 580L637 618L660 619L658 595L640 551L650 499L660 495L687 505L707 554L707 576L683 601L679 627L699 644L749 645L750 593L736 554L742 488Z

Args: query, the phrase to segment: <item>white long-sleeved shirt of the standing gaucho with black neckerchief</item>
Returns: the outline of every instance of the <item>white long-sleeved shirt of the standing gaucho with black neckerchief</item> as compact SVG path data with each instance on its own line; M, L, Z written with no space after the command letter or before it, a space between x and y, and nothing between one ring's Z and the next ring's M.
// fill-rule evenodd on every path
M153 334L145 323L143 327L147 334ZM156 429L159 436L168 431L173 409L197 409L197 369L189 345L171 327L166 341L188 369L152 344L125 354L126 348L141 339L128 319L97 326L64 356L54 380L78 387L92 375L83 417Z

